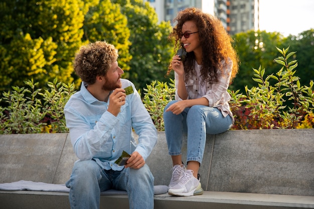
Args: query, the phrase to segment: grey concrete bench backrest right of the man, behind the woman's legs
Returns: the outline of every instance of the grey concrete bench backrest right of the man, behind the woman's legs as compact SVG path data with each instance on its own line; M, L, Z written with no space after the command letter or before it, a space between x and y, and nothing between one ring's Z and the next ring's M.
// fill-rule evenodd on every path
M313 147L314 129L229 130L207 135L199 171L202 187L207 191L314 196ZM183 160L186 149L184 138ZM158 144L146 162L155 182L168 185L172 161L164 132L158 133Z

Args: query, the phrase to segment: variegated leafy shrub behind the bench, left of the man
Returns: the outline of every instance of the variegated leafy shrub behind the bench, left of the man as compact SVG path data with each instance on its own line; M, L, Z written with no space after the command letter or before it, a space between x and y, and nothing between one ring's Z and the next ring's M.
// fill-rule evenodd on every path
M68 132L63 107L74 93L74 84L48 82L48 90L36 89L34 81L26 81L30 88L12 87L3 93L8 104L0 107L0 134Z

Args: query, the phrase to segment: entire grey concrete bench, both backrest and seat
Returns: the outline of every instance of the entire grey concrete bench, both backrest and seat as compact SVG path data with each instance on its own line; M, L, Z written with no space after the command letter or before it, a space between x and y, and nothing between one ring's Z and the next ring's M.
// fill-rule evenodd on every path
M0 135L0 183L64 184L76 160L67 133ZM164 132L146 163L155 185L169 184L172 162ZM155 195L154 208L314 208L314 129L207 135L200 175L203 195ZM0 208L70 208L68 195L0 190ZM100 208L128 208L127 195L102 195Z

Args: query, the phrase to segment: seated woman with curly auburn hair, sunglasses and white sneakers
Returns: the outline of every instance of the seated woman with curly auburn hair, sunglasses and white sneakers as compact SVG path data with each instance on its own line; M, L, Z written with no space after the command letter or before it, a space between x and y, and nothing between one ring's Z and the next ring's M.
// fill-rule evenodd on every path
M232 39L221 22L201 10L188 8L174 19L170 38L176 49L167 74L175 71L176 95L164 111L164 122L173 174L170 195L202 194L198 175L205 149L206 134L222 133L234 119L227 92L238 71L238 58ZM182 135L187 132L187 166L181 156Z

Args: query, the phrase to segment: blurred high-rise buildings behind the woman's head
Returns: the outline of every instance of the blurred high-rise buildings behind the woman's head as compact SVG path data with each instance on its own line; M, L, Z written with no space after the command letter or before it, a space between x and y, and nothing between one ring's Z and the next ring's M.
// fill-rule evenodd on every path
M258 7L259 0L144 0L149 2L158 15L160 21L170 21L177 13L189 7L201 9L220 19L230 35L239 32L253 30L256 21L255 7ZM257 1L257 4L255 4ZM254 17L254 15L256 17Z

